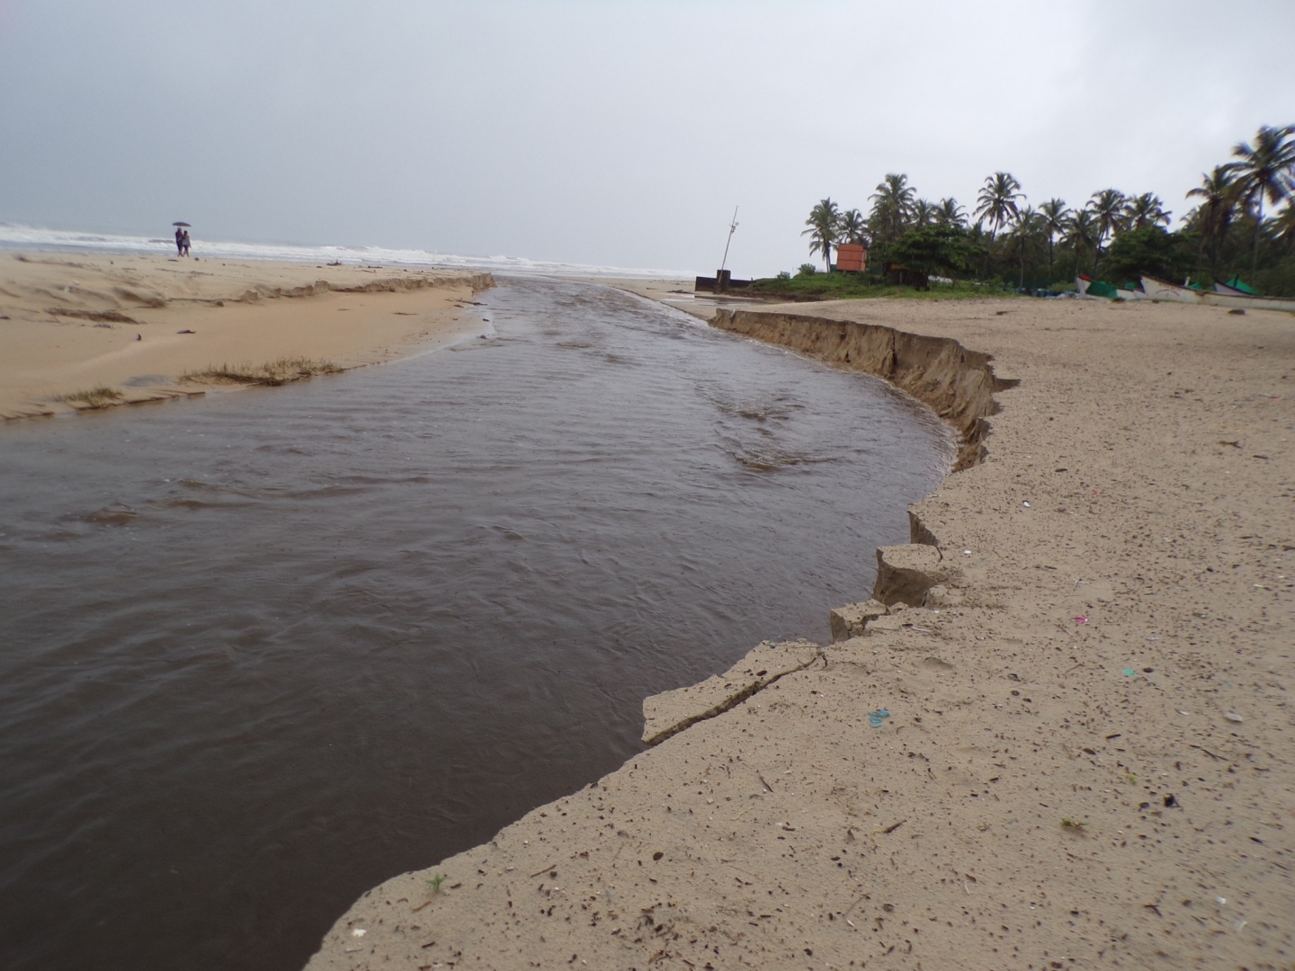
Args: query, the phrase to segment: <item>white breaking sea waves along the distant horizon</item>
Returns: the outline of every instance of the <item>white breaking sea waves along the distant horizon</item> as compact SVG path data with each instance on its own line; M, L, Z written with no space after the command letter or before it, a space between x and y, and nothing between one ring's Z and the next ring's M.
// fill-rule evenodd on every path
M170 238L150 240L144 236L79 233L66 229L0 223L0 249L5 250L85 250L101 252L170 254ZM580 263L548 263L524 256L455 256L427 250L388 250L382 246L280 246L275 243L212 242L196 240L194 255L203 259L285 260L291 263L377 263L385 267L434 267L436 269L488 269L521 276L605 276L642 278L686 278L690 273L668 269L627 269L624 267L592 267Z

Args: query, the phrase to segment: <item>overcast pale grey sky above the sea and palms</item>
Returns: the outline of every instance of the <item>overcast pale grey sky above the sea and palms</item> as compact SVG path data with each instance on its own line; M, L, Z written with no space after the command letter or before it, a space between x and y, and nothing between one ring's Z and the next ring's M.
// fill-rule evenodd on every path
M712 271L887 172L1156 192L1295 122L1295 1L0 0L0 220Z

